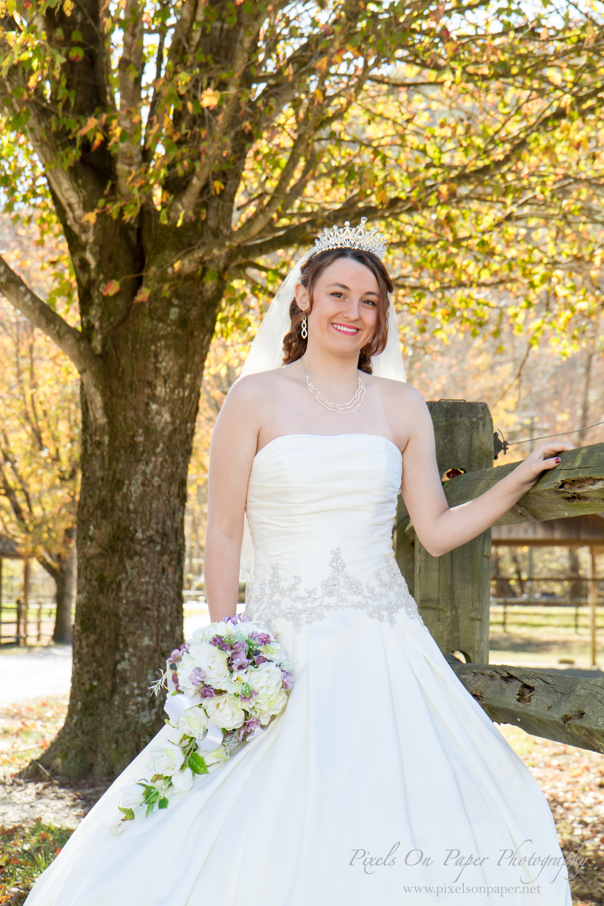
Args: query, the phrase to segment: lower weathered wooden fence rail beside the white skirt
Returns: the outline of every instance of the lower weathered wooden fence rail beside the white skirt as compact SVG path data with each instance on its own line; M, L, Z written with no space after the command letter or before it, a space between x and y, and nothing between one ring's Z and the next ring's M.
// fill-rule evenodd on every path
M452 659L449 663L495 723L604 753L604 679Z

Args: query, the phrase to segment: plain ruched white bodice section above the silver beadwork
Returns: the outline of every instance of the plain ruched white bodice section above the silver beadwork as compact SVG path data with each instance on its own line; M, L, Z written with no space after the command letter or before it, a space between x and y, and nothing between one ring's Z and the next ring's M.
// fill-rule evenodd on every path
M401 466L400 450L379 435L271 440L254 457L247 489L254 574L275 558L298 572L301 554L312 566L330 545L372 564L391 554Z

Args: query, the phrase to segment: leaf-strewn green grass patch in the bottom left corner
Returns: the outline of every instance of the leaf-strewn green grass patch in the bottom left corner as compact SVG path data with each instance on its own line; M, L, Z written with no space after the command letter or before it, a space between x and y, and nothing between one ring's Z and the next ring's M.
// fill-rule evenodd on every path
M53 862L71 834L40 821L0 826L0 903L21 906L35 879Z

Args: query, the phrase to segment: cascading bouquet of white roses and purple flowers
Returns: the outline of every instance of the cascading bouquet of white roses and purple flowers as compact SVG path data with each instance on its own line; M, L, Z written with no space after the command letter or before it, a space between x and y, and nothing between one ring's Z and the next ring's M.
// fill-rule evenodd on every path
M172 732L151 750L146 779L120 791L114 832L139 814L168 808L168 794L187 794L197 776L264 733L293 683L282 646L250 617L225 617L198 629L172 651L167 668L151 689L158 695L168 688L164 708Z

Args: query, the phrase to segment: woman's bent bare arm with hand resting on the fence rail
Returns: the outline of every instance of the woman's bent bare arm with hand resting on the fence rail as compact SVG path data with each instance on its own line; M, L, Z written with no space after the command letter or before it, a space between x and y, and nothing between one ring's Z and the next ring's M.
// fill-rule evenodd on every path
M406 388L405 406L399 411L404 411L408 431L400 491L417 537L435 557L465 545L493 525L531 489L542 471L558 465L561 450L573 449L566 440L542 443L486 493L449 509L436 467L432 419L421 394Z

